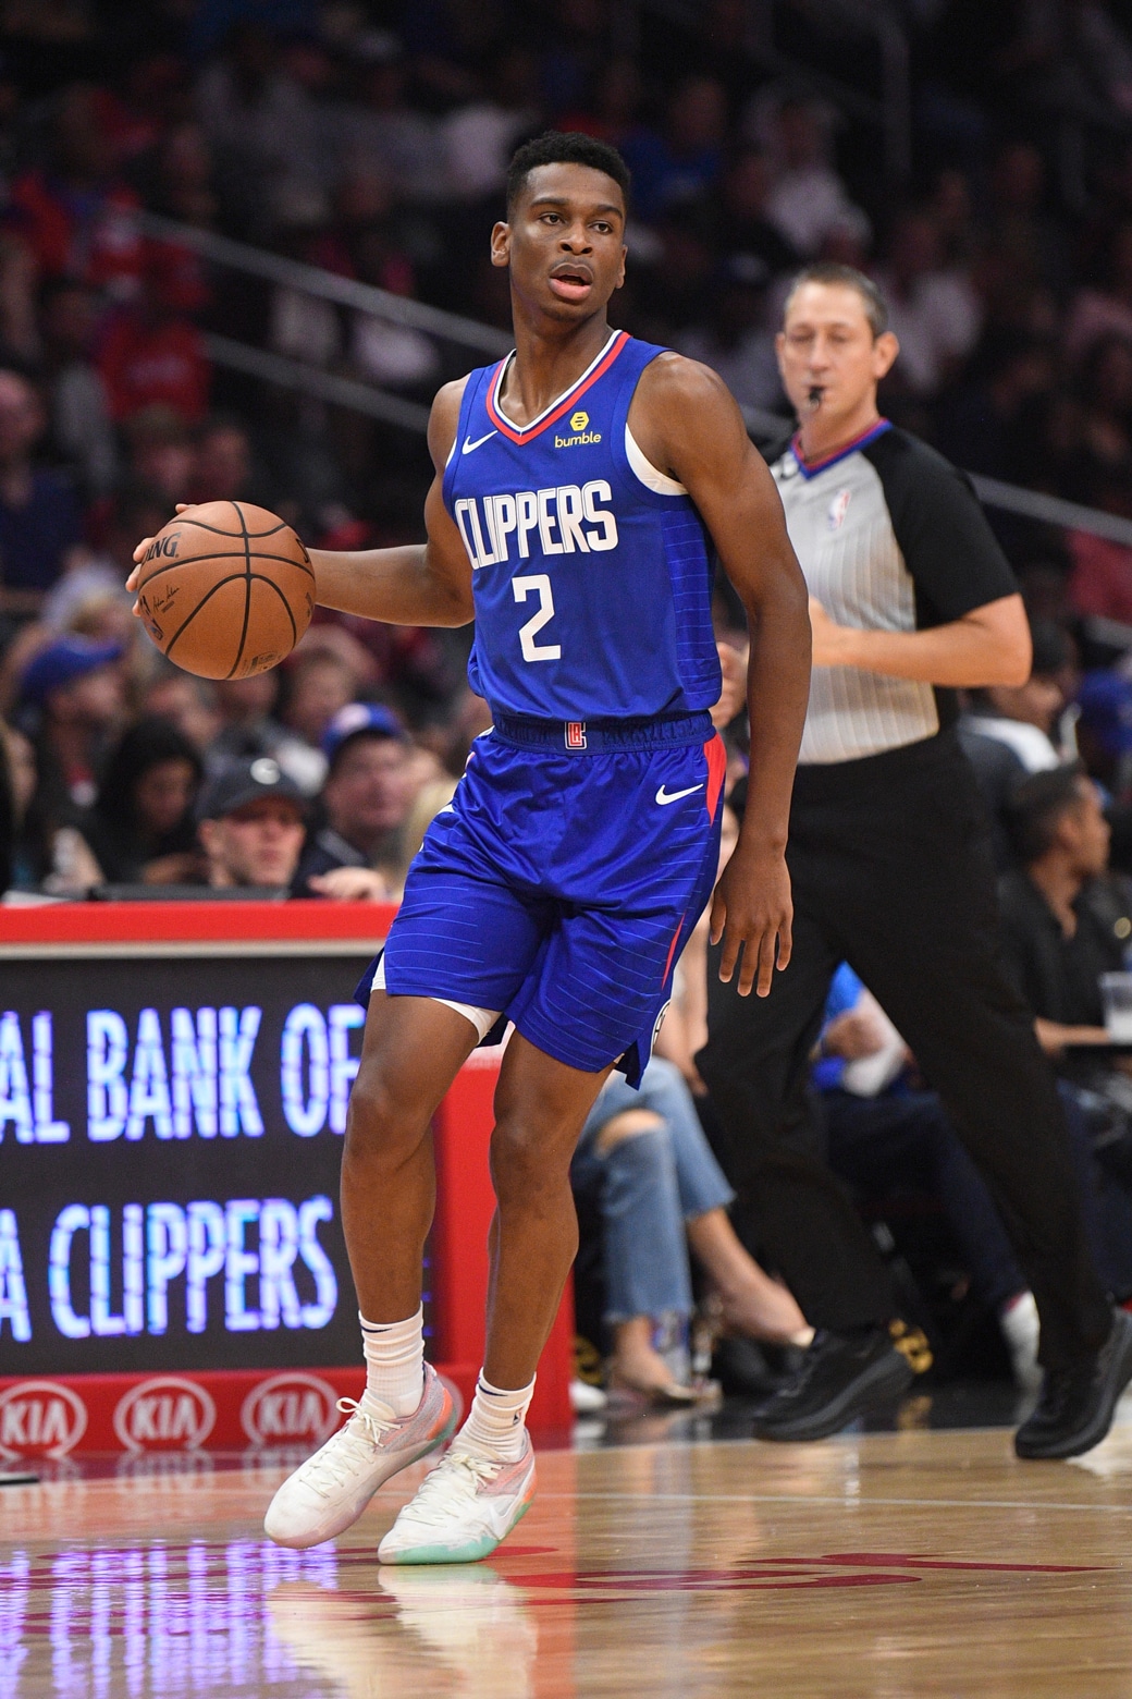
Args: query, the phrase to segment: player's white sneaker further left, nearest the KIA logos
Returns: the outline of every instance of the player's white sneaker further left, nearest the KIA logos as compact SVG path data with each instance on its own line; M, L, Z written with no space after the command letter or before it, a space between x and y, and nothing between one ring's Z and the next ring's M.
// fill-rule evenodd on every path
M356 1522L378 1487L443 1446L457 1425L451 1395L424 1364L424 1391L412 1415L397 1417L377 1398L339 1398L350 1417L272 1499L263 1529L277 1546L304 1549Z

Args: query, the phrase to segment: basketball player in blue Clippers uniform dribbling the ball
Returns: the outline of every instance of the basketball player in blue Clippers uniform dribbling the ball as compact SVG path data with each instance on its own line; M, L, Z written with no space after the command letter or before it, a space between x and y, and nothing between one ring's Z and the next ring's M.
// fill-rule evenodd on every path
M720 379L609 328L626 190L621 156L586 136L516 153L492 231L516 350L436 398L428 542L312 552L324 607L399 625L475 617L468 676L494 731L429 827L372 979L341 1193L367 1390L275 1495L266 1531L287 1546L339 1534L450 1436L421 1339L429 1121L501 1014L516 1031L496 1092L484 1371L378 1556L484 1558L531 1502L524 1417L577 1249L574 1145L609 1070L640 1079L716 870L711 544L754 637L750 800L715 931L743 994L769 992L776 951L789 960L806 588Z

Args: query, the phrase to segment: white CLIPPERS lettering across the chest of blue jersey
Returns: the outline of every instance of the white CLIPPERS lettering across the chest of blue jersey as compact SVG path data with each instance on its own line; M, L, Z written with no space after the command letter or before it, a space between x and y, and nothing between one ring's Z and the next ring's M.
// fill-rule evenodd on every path
M519 489L502 496L463 496L453 513L474 567L530 561L540 554L602 554L618 545L618 522L604 477L555 489Z

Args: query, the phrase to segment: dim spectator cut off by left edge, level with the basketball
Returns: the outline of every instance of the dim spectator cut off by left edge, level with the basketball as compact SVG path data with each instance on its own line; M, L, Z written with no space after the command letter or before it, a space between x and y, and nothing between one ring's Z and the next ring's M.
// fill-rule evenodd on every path
M63 474L37 467L46 428L39 396L0 372L0 605L36 607L81 542L81 515Z

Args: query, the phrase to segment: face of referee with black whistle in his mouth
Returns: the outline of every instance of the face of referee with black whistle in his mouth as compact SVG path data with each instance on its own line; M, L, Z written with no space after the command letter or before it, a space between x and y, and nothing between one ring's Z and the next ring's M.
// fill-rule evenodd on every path
M782 387L801 420L816 406L828 423L876 406L876 386L899 345L872 335L862 297L849 284L803 284L787 302L777 336Z

